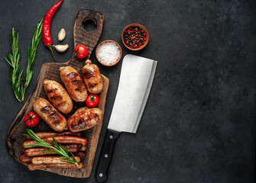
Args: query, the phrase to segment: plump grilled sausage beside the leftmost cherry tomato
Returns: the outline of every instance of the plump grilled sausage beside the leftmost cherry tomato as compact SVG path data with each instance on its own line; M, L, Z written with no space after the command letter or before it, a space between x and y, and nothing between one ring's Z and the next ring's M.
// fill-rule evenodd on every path
M66 127L66 118L44 98L33 103L34 111L55 131L62 132Z

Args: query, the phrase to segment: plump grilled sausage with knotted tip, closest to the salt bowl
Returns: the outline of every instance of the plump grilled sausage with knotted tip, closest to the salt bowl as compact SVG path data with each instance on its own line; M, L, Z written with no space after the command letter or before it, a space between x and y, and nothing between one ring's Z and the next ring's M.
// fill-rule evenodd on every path
M87 90L92 94L97 94L103 90L103 79L98 66L91 60L86 60L86 66L82 69L83 81L86 83Z

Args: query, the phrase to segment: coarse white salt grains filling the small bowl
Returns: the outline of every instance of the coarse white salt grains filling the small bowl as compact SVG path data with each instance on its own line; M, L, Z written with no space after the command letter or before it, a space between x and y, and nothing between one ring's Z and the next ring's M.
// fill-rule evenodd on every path
M116 43L105 42L98 47L96 56L101 63L111 65L115 63L120 57L120 49Z

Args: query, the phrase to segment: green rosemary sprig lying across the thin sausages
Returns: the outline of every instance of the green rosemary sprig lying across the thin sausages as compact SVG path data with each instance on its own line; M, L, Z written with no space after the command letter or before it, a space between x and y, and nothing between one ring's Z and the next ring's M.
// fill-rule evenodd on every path
M44 151L44 152L48 152L48 153L53 153L53 154L57 154L60 156L60 158L66 159L66 161L63 162L70 162L73 163L75 165L78 165L78 163L76 162L75 156L73 155L72 152L70 152L72 159L69 156L69 152L67 151L66 147L63 148L63 146L59 145L57 143L57 141L55 140L55 138L53 137L53 144L51 145L50 143L45 142L44 140L41 140L41 138L39 138L31 129L27 129L27 133L28 134L23 134L24 136L28 136L33 140L36 140L37 143L34 143L30 146L24 146L24 148L31 148L31 147L35 147L35 146L41 146L41 147L47 147L52 149L53 151Z

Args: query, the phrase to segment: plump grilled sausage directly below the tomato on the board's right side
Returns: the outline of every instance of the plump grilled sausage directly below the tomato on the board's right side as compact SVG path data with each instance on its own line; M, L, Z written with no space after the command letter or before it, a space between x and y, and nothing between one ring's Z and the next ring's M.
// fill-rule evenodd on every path
M99 108L79 108L68 119L67 126L70 131L78 132L87 130L103 120L103 113Z

